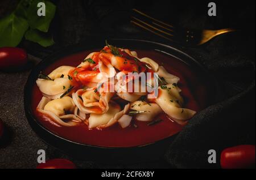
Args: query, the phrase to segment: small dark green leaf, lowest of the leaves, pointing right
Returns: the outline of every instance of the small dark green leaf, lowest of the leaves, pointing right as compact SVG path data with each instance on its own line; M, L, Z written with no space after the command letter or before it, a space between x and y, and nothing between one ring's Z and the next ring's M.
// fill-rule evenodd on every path
M47 47L54 44L52 36L47 33L40 32L36 29L29 29L25 34L26 40L37 42L41 46Z

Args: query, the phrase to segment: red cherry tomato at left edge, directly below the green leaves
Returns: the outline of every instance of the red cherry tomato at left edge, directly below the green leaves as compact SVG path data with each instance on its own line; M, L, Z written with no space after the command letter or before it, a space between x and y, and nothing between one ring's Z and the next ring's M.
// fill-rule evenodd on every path
M20 48L0 48L0 70L26 65L27 53Z

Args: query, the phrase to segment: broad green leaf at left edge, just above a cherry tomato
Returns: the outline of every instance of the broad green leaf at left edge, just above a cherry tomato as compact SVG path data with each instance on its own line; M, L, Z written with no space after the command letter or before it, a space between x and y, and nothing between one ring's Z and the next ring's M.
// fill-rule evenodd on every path
M27 29L27 20L14 13L0 19L0 47L17 46Z

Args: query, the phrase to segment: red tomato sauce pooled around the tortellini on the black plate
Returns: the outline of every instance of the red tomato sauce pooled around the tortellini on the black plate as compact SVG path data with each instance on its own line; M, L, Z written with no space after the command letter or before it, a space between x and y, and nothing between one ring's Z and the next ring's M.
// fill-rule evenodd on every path
M98 50L97 50L98 51ZM159 66L164 66L168 72L180 78L178 83L181 88L181 95L184 98L184 108L199 110L208 105L210 92L208 92L207 85L195 71L181 62L179 59L167 56L155 51L136 50L139 58L149 57L159 63ZM78 66L81 61L92 51L85 51L68 57L59 59L52 63L43 72L49 74L51 71L59 66ZM168 138L177 132L180 132L183 126L171 121L166 114L160 114L156 119L162 119L155 125L148 126L148 122L134 121L137 125L134 127L131 123L130 127L122 129L118 123L112 127L103 130L89 130L85 123L81 123L75 127L60 127L51 122L51 119L38 113L36 106L42 98L42 93L39 91L37 85L34 85L32 93L32 110L35 117L44 127L49 131L59 135L65 139L72 140L73 142L97 145L101 147L133 147L138 145L146 145L154 143L158 140Z

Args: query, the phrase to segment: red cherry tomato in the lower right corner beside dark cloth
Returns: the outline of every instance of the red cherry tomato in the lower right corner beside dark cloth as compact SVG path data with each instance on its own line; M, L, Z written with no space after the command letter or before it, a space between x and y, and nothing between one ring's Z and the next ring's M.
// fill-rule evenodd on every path
M241 169L255 167L255 145L238 145L221 152L221 168Z

